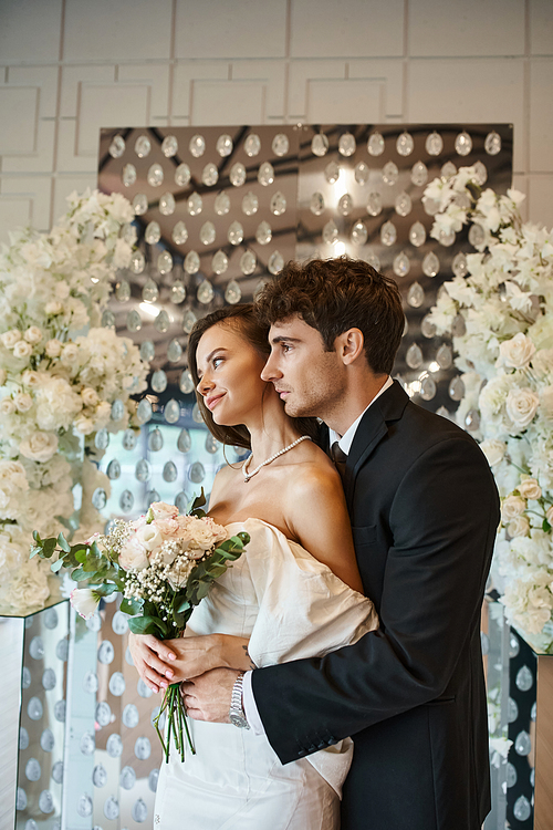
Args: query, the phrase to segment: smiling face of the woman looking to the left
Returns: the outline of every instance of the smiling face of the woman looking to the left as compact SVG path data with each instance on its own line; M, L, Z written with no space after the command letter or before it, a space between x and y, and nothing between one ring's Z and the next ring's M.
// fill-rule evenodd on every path
M257 417L263 395L272 393L272 384L261 380L265 360L239 329L217 323L201 335L197 390L216 424L236 426Z

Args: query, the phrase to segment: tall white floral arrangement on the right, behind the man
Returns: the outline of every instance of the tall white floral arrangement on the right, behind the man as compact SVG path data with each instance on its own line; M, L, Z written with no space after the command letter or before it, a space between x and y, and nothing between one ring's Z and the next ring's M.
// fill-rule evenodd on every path
M482 190L461 167L425 190L440 239L471 225L429 322L452 334L465 396L456 417L480 440L502 496L493 574L508 620L553 652L553 232L523 222L524 196Z

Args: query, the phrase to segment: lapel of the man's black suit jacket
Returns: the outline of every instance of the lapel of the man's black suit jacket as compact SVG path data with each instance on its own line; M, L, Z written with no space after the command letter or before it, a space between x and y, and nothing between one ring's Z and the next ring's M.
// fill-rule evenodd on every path
M344 490L348 505L353 502L357 474L375 447L388 433L388 422L397 421L409 398L397 381L372 404L363 416L347 456Z

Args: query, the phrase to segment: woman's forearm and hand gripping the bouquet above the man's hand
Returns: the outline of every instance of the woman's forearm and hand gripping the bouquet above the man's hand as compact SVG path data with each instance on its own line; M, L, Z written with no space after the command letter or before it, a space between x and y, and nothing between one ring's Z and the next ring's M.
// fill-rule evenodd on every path
M144 683L156 693L210 668L255 668L248 643L247 637L230 634L198 636L190 629L177 640L157 640L152 634L128 637L133 663Z

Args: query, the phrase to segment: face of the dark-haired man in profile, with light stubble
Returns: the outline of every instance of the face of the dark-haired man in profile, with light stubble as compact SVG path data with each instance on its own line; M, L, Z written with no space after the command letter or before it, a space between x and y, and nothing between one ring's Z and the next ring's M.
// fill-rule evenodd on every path
M346 381L338 352L325 351L321 334L298 315L271 325L269 342L271 354L261 377L274 385L286 415L332 423Z

